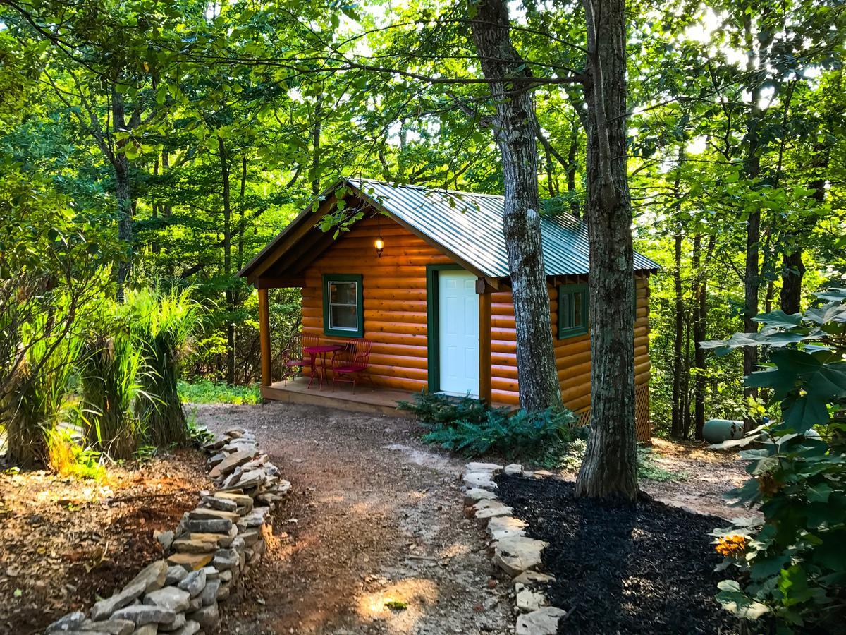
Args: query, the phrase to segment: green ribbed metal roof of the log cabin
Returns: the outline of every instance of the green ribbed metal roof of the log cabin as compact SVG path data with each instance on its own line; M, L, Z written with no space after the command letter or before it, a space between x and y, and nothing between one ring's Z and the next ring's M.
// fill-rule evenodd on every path
M346 183L486 276L508 276L503 196L370 179L346 179ZM547 275L590 272L590 247L583 222L569 214L541 216L541 240ZM634 253L635 271L658 268L656 262Z

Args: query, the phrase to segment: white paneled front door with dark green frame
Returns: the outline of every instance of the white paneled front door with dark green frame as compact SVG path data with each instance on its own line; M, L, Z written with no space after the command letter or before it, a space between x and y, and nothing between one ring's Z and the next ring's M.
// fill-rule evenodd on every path
M475 276L466 271L439 271L438 351L441 392L479 395L479 296Z

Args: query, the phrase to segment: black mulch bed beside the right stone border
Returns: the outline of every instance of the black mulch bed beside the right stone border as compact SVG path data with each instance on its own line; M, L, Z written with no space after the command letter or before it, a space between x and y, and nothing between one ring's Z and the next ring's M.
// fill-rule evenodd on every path
M643 497L634 507L573 496L558 478L499 476L498 494L546 540L543 566L556 577L552 605L568 611L559 633L736 633L739 623L714 599L725 572L715 527L728 522Z

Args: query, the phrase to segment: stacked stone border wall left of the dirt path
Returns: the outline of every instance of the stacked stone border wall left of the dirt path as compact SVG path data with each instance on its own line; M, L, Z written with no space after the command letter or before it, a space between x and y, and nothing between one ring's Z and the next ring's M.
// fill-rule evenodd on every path
M157 532L167 560L146 566L86 614L54 621L47 635L195 635L219 620L218 603L255 566L272 532L270 512L291 487L258 448L255 435L231 428L203 446L217 491L173 531Z

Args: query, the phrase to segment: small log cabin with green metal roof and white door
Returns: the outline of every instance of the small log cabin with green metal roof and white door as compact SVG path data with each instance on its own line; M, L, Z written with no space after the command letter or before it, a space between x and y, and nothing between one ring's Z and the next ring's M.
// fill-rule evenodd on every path
M343 203L340 203L343 201ZM336 237L318 222L338 207ZM427 390L517 406L514 304L503 237L503 196L342 179L276 236L239 275L259 294L261 393L266 399L395 411ZM549 319L563 405L587 421L591 407L590 275L585 224L541 216ZM649 276L634 254L634 378L638 439L648 441ZM273 382L267 290L302 291L302 329L327 343L373 342L370 391ZM342 394L343 393L343 394Z

